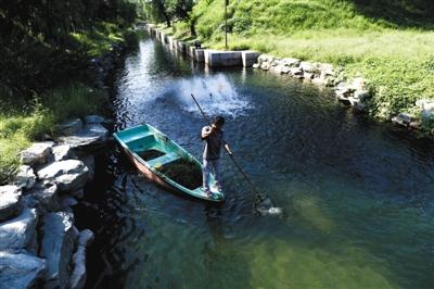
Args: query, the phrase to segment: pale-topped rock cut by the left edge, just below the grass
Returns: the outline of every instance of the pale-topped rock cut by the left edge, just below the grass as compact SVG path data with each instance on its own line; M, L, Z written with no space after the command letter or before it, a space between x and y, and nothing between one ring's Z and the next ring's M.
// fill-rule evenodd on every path
M0 221L5 221L20 214L22 210L22 190L17 186L0 187Z

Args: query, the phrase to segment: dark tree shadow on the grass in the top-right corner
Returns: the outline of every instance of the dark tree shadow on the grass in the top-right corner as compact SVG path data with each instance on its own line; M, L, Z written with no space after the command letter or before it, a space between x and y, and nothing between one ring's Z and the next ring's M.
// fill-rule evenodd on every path
M392 27L434 29L432 0L347 0L358 13Z

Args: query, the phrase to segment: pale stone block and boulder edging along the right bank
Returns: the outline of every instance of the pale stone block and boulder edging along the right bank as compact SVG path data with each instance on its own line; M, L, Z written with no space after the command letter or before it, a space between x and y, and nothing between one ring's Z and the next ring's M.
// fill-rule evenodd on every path
M256 51L218 51L195 48L187 42L164 34L155 25L144 26L157 40L166 43L175 53L187 54L196 62L210 67L244 66L288 75L309 81L314 85L330 87L336 99L357 111L368 111L369 99L372 97L367 89L367 79L356 77L347 79L342 67L332 64L307 62L292 58L276 58L260 54ZM412 113L399 113L392 122L407 128L421 128L423 120L434 120L434 100L421 99L414 103Z

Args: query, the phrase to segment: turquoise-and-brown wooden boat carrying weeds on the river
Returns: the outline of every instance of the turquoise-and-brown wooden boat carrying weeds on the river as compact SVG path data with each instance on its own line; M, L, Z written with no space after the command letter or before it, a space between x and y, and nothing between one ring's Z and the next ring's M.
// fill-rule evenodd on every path
M202 188L202 164L178 143L149 124L139 125L113 134L120 143L129 160L139 168L146 178L156 184L213 202L222 202L225 194L217 190L214 176L209 177L212 196L207 196ZM170 172L176 165L188 164L187 169ZM171 166L171 167L170 167ZM178 166L184 168L182 166ZM194 176L186 175L188 171L194 172ZM179 172L183 171L183 172ZM179 174L178 174L179 173ZM184 179L194 178L195 184L183 184ZM197 179L199 178L199 179ZM190 181L191 183L191 181ZM194 188L192 187L194 185ZM196 185L199 185L196 187ZM189 188L190 187L190 188Z

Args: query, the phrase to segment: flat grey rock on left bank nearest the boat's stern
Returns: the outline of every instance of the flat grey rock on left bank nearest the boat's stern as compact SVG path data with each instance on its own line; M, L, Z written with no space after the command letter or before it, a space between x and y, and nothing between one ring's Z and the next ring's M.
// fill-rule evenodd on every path
M61 143L69 144L75 150L91 150L104 144L107 140L108 130L101 124L86 125L84 130L58 140Z

